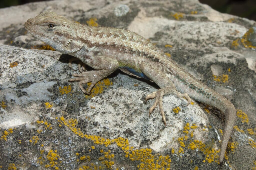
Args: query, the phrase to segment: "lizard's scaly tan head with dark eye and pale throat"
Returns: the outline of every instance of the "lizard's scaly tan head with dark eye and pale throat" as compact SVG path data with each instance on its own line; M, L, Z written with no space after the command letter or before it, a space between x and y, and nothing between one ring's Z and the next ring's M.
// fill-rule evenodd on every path
M39 40L64 54L78 51L81 47L72 42L76 37L76 22L52 11L46 11L25 23L26 30Z

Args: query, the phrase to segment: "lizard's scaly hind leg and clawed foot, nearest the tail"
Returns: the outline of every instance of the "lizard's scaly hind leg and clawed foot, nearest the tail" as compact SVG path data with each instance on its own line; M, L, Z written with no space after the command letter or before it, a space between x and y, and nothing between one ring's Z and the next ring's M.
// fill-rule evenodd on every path
M156 98L155 103L149 110L149 116L152 113L152 111L156 108L156 106L159 105L159 110L162 115L164 124L166 126L166 119L165 119L164 110L163 110L163 96L169 95L169 94L174 94L181 98L185 97L188 100L187 105L191 102L191 99L186 93L181 94L180 92L177 91L173 82L166 75L167 72L169 74L169 71L163 64L153 62L153 61L142 62L140 64L140 69L148 78L150 78L152 81L154 81L161 88L161 89L154 91L153 93L147 95L145 98L145 102L148 99Z

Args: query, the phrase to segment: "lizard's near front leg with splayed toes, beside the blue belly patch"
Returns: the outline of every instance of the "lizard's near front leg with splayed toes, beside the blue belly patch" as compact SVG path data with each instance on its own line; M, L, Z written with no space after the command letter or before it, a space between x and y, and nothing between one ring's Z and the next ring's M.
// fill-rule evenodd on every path
M93 56L87 64L95 70L72 74L72 76L76 78L69 80L79 81L79 87L85 94L90 94L91 89L98 81L113 73L119 66L117 60L105 56ZM91 82L91 85L88 87L88 90L86 90L83 88L83 84L88 82Z

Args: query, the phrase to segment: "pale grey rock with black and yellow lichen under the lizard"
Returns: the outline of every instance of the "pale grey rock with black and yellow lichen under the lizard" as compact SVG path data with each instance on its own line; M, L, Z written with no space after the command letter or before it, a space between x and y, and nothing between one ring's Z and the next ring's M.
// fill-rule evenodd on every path
M90 96L68 82L71 56L38 50L52 48L24 28L45 10L134 31L228 98L238 117L224 163L217 109L165 96L165 127L158 108L148 117L152 82L116 71ZM0 9L0 20L0 169L256 169L254 21L195 0L38 2Z

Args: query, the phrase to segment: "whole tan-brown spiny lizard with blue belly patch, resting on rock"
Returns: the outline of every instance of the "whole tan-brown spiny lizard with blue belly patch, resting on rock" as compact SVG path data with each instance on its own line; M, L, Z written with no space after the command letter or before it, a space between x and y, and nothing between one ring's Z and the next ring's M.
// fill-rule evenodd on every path
M153 81L159 86L160 89L145 97L145 102L155 99L149 109L149 116L159 106L165 126L164 95L184 97L187 100L184 106L188 106L193 98L219 109L226 117L219 154L219 162L223 161L236 120L233 104L180 67L144 37L124 29L90 27L52 11L28 19L25 28L60 53L69 54L82 62L78 67L80 74L72 74L74 78L69 81L79 81L79 87L85 94L90 94L98 81L120 69L129 75ZM69 61L69 66L74 60ZM85 71L83 64L94 70ZM83 84L88 82L91 85L86 90Z

